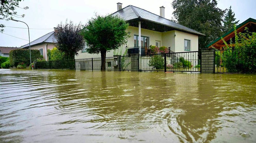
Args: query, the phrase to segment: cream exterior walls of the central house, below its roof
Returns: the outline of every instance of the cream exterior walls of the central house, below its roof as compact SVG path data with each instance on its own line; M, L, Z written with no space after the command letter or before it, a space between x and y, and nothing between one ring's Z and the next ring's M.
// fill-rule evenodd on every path
M139 28L129 26L126 30L130 32L130 38L128 38L127 43L122 46L122 54L125 53L126 46L134 47L134 35L139 35ZM176 37L175 37L176 35ZM158 32L148 29L141 28L141 36L149 37L149 46L156 45L156 41L159 41L161 46L171 47L171 50L174 52L187 52L184 50L184 39L190 40L190 51L198 51L198 36L188 34L180 31L167 31L167 32ZM120 53L116 53L120 54ZM114 50L107 52L106 57L113 57ZM75 59L87 59L87 58L100 58L99 54L89 54L88 52L82 52L80 50L78 55L75 56Z

